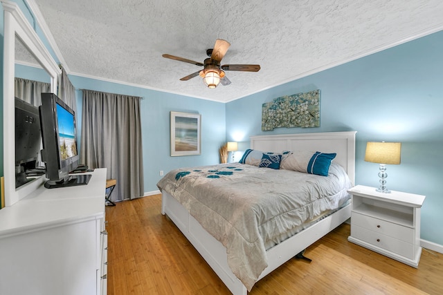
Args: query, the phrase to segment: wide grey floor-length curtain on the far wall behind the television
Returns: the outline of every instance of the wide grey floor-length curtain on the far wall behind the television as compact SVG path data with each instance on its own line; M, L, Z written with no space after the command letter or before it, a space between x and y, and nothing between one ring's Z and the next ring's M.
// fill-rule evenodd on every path
M83 91L80 161L116 179L111 200L143 196L141 97Z

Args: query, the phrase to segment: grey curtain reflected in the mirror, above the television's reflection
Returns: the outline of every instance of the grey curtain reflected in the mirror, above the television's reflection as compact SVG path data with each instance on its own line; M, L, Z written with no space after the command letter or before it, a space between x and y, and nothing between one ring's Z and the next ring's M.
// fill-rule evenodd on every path
M42 93L50 91L51 84L49 83L15 78L15 96L34 106L40 106L42 104Z

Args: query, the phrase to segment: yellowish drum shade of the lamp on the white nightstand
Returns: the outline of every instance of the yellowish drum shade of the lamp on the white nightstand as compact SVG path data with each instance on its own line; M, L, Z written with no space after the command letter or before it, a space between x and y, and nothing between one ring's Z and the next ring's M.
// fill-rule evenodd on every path
M365 161L379 164L400 164L401 142L368 142Z

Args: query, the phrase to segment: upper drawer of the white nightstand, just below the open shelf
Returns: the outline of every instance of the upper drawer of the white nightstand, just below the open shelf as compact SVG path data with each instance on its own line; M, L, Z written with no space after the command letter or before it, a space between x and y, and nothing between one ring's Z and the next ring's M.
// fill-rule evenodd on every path
M364 229L369 229L385 236L403 240L410 244L414 243L415 229L410 227L404 227L402 225L397 225L386 220L373 218L356 212L352 212L351 224L352 226L356 225L363 227ZM352 236L354 236L354 234L352 234Z

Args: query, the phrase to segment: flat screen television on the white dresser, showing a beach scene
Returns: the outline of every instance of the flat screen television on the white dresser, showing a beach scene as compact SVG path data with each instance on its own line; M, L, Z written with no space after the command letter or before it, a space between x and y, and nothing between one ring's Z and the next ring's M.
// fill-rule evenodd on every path
M91 174L69 175L78 167L75 113L53 93L42 93L39 106L42 129L42 162L48 189L88 184Z

